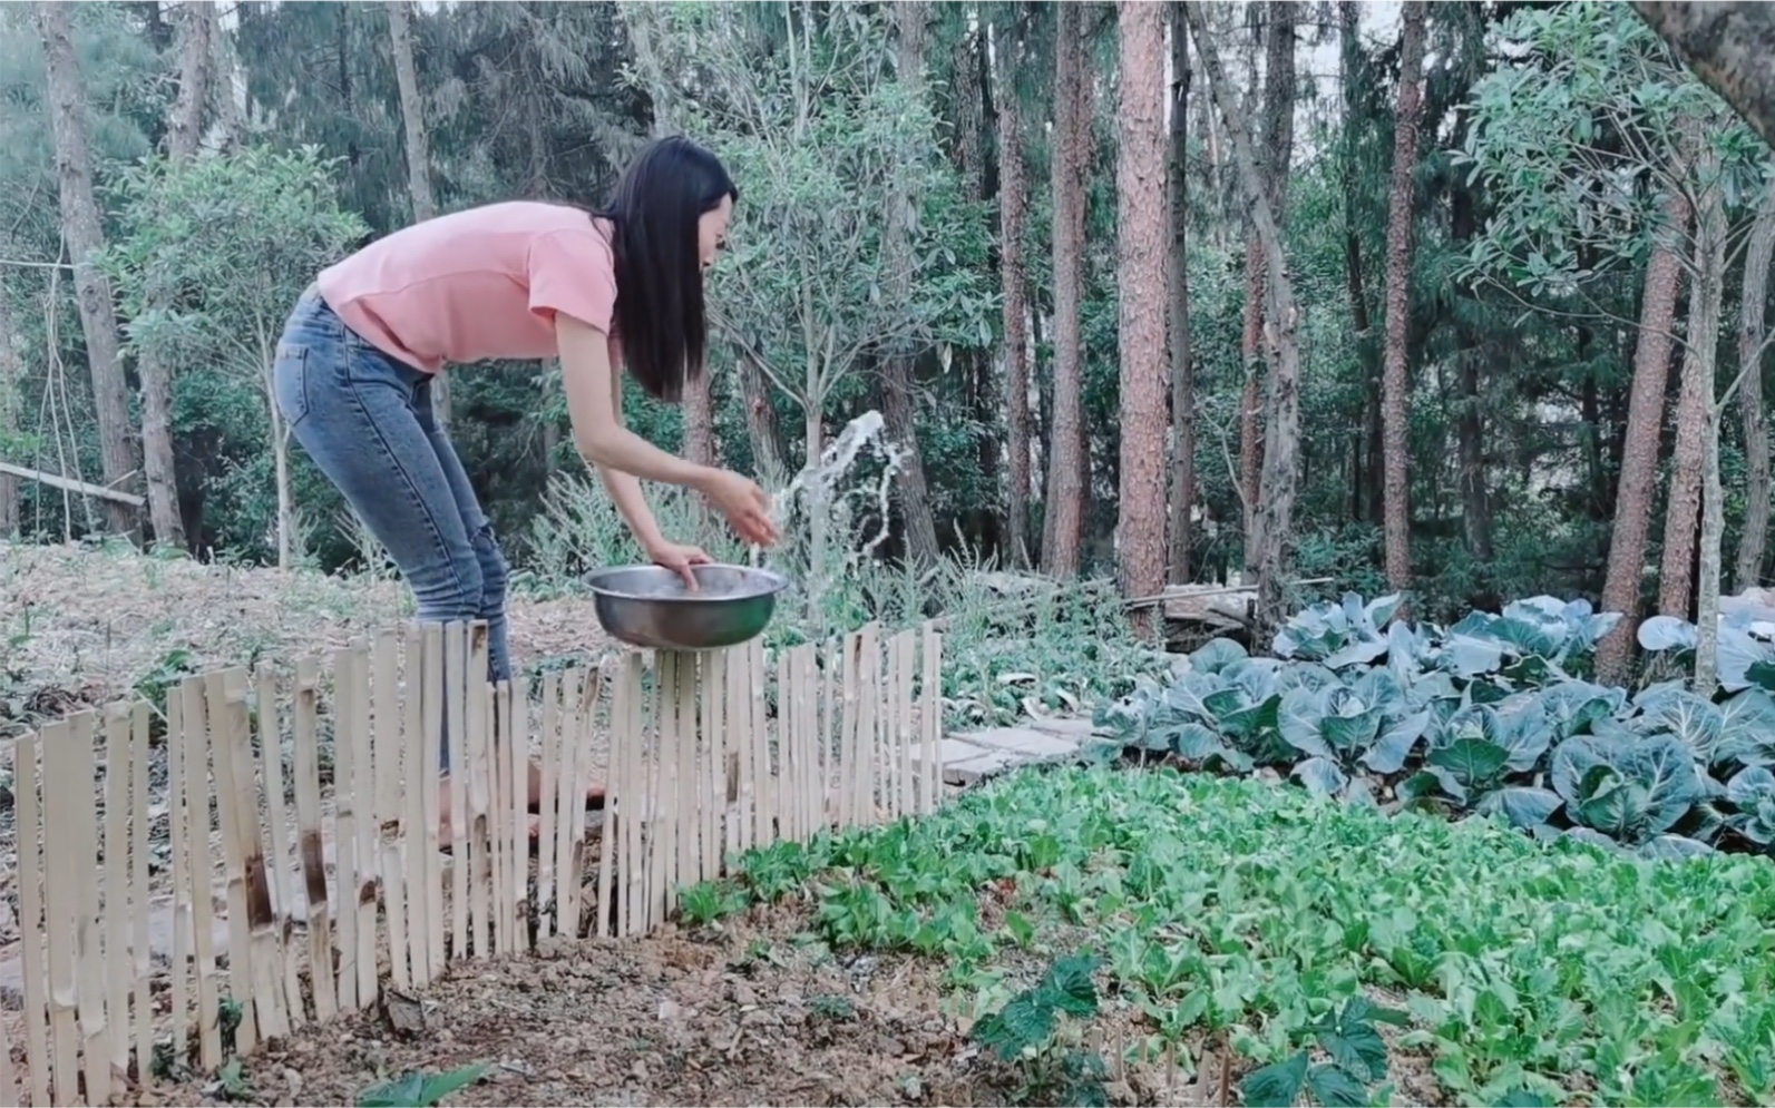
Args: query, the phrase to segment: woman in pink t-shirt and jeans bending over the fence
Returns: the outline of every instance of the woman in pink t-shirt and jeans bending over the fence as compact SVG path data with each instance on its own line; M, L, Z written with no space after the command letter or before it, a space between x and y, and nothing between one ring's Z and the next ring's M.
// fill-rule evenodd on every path
M776 542L756 482L623 425L614 371L664 401L703 372L703 275L735 200L714 154L662 138L604 211L518 200L426 220L323 269L284 324L275 390L291 433L389 550L419 619L486 620L493 681L511 675L506 558L433 420L433 376L447 362L559 356L575 445L648 557L690 585L710 558L660 534L641 479L696 489L742 539ZM447 775L449 750L440 757ZM540 778L532 764L531 807ZM447 837L449 789L440 815Z

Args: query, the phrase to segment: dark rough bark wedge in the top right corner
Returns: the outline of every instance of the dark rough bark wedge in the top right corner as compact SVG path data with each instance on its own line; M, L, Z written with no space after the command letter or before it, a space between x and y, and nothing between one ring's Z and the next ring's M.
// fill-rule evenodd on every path
M1775 7L1633 0L1633 9L1763 142L1775 145L1775 69L1770 67Z

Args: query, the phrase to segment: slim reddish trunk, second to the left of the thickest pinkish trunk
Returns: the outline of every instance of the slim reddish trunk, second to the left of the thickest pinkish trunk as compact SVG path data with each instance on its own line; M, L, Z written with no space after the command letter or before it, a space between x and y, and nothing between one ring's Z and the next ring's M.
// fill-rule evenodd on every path
M1028 168L1022 151L1022 112L1017 98L1017 67L1024 60L1022 11L1012 5L1010 20L1001 27L1003 37L992 66L998 90L999 138L999 284L1005 291L1005 473L1006 530L1012 566L1028 569L1030 542L1030 447L1035 434L1030 427L1030 346L1028 346L1028 277L1024 273L1024 234L1030 218Z

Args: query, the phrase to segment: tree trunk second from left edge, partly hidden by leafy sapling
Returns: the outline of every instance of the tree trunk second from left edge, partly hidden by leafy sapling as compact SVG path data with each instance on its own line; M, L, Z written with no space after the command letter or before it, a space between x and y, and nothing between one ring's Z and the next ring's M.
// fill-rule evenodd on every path
M186 4L179 9L179 96L167 126L167 156L174 163L197 158L209 99L213 5ZM149 310L163 310L165 296L154 294ZM172 365L153 349L137 358L142 379L142 475L147 479L147 519L154 541L188 548L179 511L179 480L172 443Z

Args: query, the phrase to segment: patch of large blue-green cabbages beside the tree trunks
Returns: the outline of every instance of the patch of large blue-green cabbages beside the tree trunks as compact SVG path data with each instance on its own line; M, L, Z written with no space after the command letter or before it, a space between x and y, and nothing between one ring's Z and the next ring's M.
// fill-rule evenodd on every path
M1186 764L1273 766L1314 792L1498 815L1537 837L1654 856L1766 846L1775 778L1750 773L1775 764L1766 688L1594 684L1590 652L1619 617L1583 601L1534 597L1448 629L1393 620L1397 606L1310 608L1276 635L1278 658L1211 642L1168 688L1143 683L1099 718ZM1667 642L1647 622L1647 645Z

